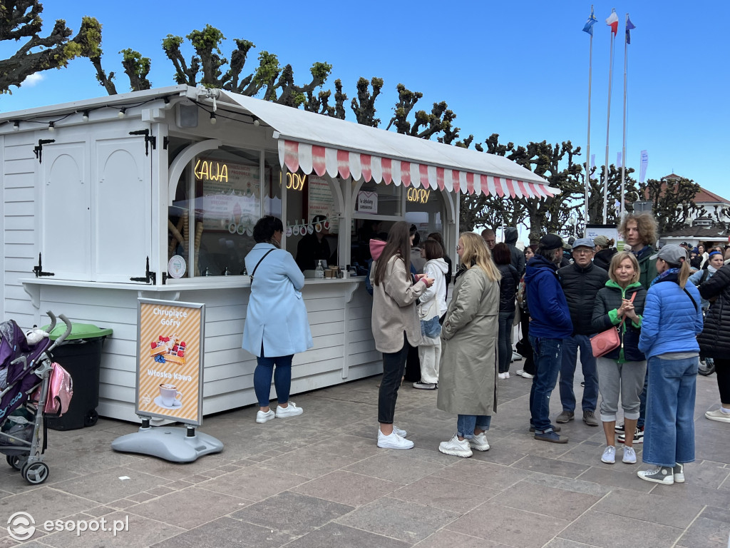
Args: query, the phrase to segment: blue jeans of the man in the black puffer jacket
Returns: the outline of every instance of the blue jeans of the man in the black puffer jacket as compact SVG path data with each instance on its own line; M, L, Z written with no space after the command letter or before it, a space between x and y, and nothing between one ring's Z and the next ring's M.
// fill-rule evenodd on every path
M591 338L588 335L572 335L563 339L563 360L560 368L560 401L563 411L575 411L575 393L573 392L573 376L575 360L580 349L580 365L583 367L583 411L596 411L598 403L598 372L596 358L591 349Z

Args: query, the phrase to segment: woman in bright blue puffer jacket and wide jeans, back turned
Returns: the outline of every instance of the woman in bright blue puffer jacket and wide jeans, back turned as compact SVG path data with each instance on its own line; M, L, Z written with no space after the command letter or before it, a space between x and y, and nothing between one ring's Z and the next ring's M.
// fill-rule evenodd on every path
M694 462L694 402L697 389L702 308L691 283L687 251L664 246L657 254L659 275L646 296L639 351L647 357L649 387L642 460L654 468L637 472L646 482L685 481L684 465Z

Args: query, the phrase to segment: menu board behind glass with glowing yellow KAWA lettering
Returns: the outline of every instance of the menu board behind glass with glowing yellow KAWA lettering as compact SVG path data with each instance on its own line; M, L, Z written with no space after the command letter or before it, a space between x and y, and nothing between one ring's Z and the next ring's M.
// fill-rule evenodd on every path
M203 227L253 235L259 211L259 167L199 156L194 172L203 183Z

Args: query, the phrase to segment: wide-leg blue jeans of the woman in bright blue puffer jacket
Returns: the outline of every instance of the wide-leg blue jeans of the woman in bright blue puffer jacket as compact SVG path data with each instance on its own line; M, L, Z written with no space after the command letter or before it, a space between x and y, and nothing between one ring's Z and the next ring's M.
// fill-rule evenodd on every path
M645 463L674 466L694 461L694 398L699 357L648 361Z

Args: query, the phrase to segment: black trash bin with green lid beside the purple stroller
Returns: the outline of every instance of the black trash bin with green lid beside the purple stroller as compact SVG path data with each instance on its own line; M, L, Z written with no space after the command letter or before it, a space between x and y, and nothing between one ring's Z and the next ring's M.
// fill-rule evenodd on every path
M47 330L50 326L45 326ZM66 331L66 326L58 325L50 333L55 340ZM102 329L91 324L72 324L72 330L66 340L57 346L51 354L53 361L58 362L71 375L74 382L74 395L69 410L63 416L48 416L46 424L53 430L78 430L86 426L96 425L99 414L99 369L101 368L101 345L110 329Z

